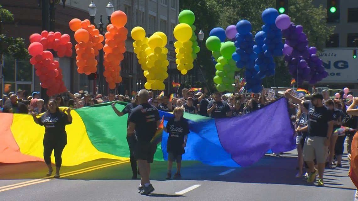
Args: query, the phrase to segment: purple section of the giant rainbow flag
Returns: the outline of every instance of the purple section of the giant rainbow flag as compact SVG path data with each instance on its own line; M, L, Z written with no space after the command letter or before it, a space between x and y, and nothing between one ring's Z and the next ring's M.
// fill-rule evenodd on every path
M249 166L269 149L274 153L296 148L294 128L285 98L251 114L215 119L218 136L225 151L240 166Z

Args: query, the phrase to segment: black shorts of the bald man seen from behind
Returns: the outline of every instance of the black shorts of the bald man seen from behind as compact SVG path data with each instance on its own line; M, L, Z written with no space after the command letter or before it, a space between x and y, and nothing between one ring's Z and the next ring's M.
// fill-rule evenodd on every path
M154 153L156 152L156 144L150 142L138 141L135 145L134 157L135 160L145 160L148 163L153 163Z

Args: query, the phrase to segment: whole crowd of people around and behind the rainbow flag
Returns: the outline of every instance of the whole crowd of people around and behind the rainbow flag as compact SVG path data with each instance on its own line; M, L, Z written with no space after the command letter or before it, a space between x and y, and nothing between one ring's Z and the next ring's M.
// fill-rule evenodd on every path
M348 137L347 151L350 154L350 144L355 131L337 132L336 130L341 126L357 129L358 99L331 99L328 90L303 97L296 97L287 90L283 96L289 100L289 114L296 131L298 153L296 178L303 177L307 182L314 182L318 175L317 184L323 186L324 170L342 167L346 137ZM39 92L33 92L28 96L24 91L19 90L17 93L10 92L4 96L0 107L4 113L33 114L35 123L45 126L44 158L49 167L47 175L50 176L53 171L50 155L55 150L55 177L59 177L61 153L67 143L65 125L72 122L71 109L112 102L113 111L118 116L129 114L127 142L130 149L132 178L135 179L137 175L141 175L142 181L138 192L147 195L154 191L149 181L149 164L153 162L156 146L153 146L150 140L160 124L158 110L174 113L173 119L164 127L164 131L169 133L166 178L171 179L173 162L176 162L177 169L173 178L181 178L181 160L190 132L188 122L183 118L184 113L212 118L236 117L266 107L275 102L276 98L279 97L269 98L268 94L261 93L223 95L216 92L209 94L207 89L195 93L193 90L184 88L181 95L171 98L167 94L155 96L153 92L147 90L141 90L134 97L116 95L112 92L108 96L91 95L86 91L75 94L67 92L50 97L49 102L45 104ZM122 111L118 111L114 101L129 104ZM60 111L59 107L68 107L67 114ZM44 114L41 117L37 116L42 113ZM143 126L145 124L147 126ZM143 130L143 128L146 129ZM56 135L60 137L54 138L54 135L49 133L57 133ZM279 153L276 155L279 156ZM137 162L139 168L137 168Z

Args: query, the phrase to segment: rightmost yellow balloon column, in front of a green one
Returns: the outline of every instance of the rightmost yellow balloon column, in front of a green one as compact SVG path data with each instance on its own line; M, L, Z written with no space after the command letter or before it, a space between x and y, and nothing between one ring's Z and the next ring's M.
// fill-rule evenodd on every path
M195 16L194 16L195 20ZM194 23L194 21L193 21ZM190 40L193 36L193 29L187 23L180 23L174 28L174 37L176 40L175 47L175 63L178 64L176 68L180 70L183 75L188 73L188 70L194 68L193 62L193 42ZM195 34L194 34L195 36Z

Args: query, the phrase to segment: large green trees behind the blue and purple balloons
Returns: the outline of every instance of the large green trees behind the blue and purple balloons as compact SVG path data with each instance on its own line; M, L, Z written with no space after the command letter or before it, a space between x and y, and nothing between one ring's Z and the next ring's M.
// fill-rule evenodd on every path
M202 25L202 23L207 23L202 25L207 27L205 33L209 33L209 31L214 27L220 26L225 29L228 25L236 25L239 20L247 19L251 22L252 33L255 35L257 31L262 29L262 11L267 8L275 8L274 0L199 1L200 4L204 4L203 2L205 1L205 10L197 5L198 1L193 1L193 3L191 3L192 1L190 0L183 0L183 3L180 1L180 8L192 9L192 11L195 13L195 16L204 16L205 19L199 20L197 18L195 24L197 27L199 27L199 25ZM315 46L319 50L323 49L326 39L328 39L329 36L333 34L334 30L334 26L327 26L326 24L326 13L326 9L324 9L322 5L318 8L315 8L312 4L312 0L290 0L289 16L291 17L291 21L296 25L300 24L303 26L304 32L310 41L309 45ZM207 37L208 34L205 35L204 40L206 40ZM212 79L215 74L215 68L211 63L210 58L211 53L207 50L205 50L205 55L198 56L198 60L200 60L202 64L208 66L206 69L212 70L212 72L208 71L209 80ZM201 60L205 60L205 62ZM275 58L275 62L277 66L276 75L269 78L264 78L263 85L265 85L265 87L272 87L275 85L280 87L290 86L291 76L288 72L288 69L284 65L283 57Z

